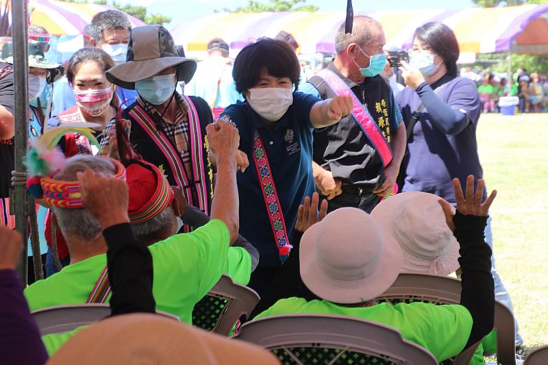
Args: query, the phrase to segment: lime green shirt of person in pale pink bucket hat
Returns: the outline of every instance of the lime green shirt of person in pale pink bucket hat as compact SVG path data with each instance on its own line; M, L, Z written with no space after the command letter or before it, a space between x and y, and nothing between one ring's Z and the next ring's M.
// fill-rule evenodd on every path
M460 304L380 303L371 307L343 307L329 301L288 298L277 301L255 318L291 313L336 314L383 323L430 351L439 362L460 353L472 331L472 316Z

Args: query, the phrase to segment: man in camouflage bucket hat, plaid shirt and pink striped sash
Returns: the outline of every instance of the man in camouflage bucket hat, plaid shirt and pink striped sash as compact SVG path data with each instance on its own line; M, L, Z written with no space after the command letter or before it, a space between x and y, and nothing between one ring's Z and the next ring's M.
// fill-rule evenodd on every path
M114 66L107 79L135 89L139 97L123 112L129 141L142 159L160 168L172 186L182 189L190 205L210 211L212 169L208 164L206 125L212 113L206 101L176 91L177 81L188 83L196 61L179 56L171 34L160 25L132 30L127 62ZM105 133L115 128L109 123ZM103 153L109 151L103 140ZM188 229L188 227L185 227Z

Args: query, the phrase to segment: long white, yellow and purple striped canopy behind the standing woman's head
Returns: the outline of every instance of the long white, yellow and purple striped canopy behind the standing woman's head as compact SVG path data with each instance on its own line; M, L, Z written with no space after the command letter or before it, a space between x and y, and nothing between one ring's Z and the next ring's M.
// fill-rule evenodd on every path
M442 22L456 33L462 53L548 53L548 4L464 10L386 10L356 12L377 19L386 44L410 47L414 30L430 21ZM299 53L334 53L336 30L345 12L216 13L178 25L172 30L177 44L189 53L203 52L208 41L223 38L234 51L260 37L279 31L291 33Z

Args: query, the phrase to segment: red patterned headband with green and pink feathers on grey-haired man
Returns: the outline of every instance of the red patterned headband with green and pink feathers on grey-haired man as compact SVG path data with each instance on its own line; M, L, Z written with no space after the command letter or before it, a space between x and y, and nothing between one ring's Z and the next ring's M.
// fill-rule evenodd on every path
M67 123L46 131L40 138L33 140L32 149L25 156L29 171L27 190L32 197L43 199L49 205L64 208L83 207L82 193L78 181L61 181L52 178L66 164L64 154L57 146L59 140L67 133L75 132L87 137L92 144L99 147L90 127L99 127L95 123ZM125 168L121 162L113 160L117 179L125 180Z

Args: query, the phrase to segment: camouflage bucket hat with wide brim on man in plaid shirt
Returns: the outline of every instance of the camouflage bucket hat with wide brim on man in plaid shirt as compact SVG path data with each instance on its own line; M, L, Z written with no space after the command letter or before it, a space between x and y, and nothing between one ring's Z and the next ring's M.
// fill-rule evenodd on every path
M145 25L132 29L126 62L107 71L108 81L126 89L135 89L135 81L146 79L177 66L177 81L188 84L196 72L197 62L179 55L171 34L162 25Z

